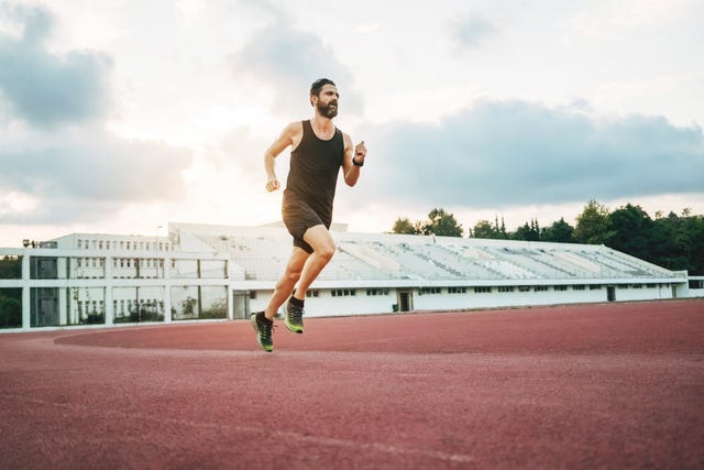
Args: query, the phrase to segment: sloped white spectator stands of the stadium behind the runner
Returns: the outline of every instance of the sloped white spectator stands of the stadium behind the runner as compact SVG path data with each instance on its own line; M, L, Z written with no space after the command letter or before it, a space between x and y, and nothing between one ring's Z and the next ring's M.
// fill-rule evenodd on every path
M333 228L334 229L334 228ZM667 280L654 264L604 245L486 240L332 230L337 252L320 281L540 281ZM283 227L170 223L169 234L187 251L227 254L245 280L275 281L290 254ZM188 245L190 244L190 245Z

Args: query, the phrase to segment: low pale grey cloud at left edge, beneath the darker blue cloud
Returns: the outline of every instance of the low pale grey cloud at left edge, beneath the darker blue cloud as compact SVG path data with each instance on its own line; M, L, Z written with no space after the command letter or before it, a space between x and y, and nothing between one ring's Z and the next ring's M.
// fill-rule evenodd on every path
M33 136L0 150L0 188L41 200L34 211L6 215L8 221L95 218L125 201L184 195L182 172L190 163L184 150L125 141L99 129L64 130L58 135L38 132Z

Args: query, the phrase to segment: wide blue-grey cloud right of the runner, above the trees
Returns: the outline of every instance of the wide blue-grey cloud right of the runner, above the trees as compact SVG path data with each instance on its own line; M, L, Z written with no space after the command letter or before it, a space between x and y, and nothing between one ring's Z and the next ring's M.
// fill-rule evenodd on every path
M362 196L370 204L496 207L704 192L702 129L662 117L594 120L485 100L439 123L364 133L375 149Z

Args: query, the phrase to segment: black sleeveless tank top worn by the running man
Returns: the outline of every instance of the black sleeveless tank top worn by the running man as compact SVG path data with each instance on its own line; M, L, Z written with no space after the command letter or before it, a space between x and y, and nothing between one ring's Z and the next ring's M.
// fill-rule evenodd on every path
M344 156L342 132L336 128L332 139L323 141L316 135L309 120L302 124L304 136L290 153L286 193L294 193L294 197L301 198L319 215L332 215L334 189Z

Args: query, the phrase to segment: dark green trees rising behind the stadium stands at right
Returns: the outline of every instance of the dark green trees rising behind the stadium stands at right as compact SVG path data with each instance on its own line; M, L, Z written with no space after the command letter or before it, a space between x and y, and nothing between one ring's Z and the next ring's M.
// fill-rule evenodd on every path
M540 227L531 219L515 231L507 231L502 217L480 220L468 230L470 238L528 240L559 243L605 244L672 271L686 270L690 275L704 275L704 216L690 209L681 215L656 212L651 218L640 206L627 204L615 210L590 200L576 217L576 225L564 220ZM411 222L398 218L394 233L463 237L464 230L453 214L436 208L428 220Z

